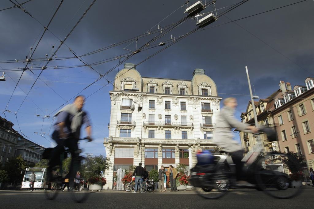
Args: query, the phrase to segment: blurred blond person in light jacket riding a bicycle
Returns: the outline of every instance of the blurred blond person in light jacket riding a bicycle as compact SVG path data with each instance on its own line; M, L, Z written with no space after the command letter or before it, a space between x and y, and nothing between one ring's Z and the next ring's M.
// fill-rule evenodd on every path
M258 129L254 126L250 126L247 123L241 123L235 118L234 112L238 105L236 98L225 98L224 105L225 106L221 108L220 114L217 117L217 128L215 128L214 132L215 143L231 155L232 160L236 165L237 184L245 185L248 183L243 181L241 178L243 168L243 163L241 160L243 158L244 152L241 144L233 139L233 133L231 132L231 129L237 128L240 131L249 131L253 133L256 133Z

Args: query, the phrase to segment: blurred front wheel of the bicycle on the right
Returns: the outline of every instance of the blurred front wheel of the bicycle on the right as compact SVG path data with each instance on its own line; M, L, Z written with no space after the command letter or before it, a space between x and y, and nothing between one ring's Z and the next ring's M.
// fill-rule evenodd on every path
M269 196L286 199L301 193L302 182L295 181L288 175L289 166L299 167L291 155L284 153L266 153L256 160L256 181L258 186Z

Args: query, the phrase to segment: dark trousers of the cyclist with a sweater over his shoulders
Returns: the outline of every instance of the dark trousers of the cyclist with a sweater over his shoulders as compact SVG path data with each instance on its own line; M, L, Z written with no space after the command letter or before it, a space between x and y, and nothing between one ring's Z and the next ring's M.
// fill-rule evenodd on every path
M60 155L62 154L64 147L69 148L72 159L71 159L71 164L70 164L70 170L68 171L68 176L69 176L70 187L73 188L74 177L76 173L76 170L73 169L73 165L75 162L78 161L78 155L79 155L78 144L77 144L78 140L75 138L60 139L57 131L54 131L52 133L52 138L53 140L56 141L57 146L51 152L51 157L50 157L49 166L48 166L48 174L51 175L51 171L54 166L62 165L62 162L61 162L62 159L60 159ZM57 162L56 162L56 159L58 159ZM51 176L48 176L48 178L49 177L51 178Z

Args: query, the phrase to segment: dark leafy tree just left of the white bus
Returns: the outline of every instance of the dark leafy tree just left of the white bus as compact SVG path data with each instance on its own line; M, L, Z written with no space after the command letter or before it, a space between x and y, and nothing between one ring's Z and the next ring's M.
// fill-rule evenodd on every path
M26 162L21 156L9 159L4 164L4 170L8 174L8 182L10 183L21 183L24 176L24 171L27 168Z

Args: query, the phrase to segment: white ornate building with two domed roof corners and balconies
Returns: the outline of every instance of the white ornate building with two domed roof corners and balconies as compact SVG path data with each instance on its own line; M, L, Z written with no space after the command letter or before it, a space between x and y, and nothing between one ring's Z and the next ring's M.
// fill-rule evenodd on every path
M142 77L134 64L125 64L115 79L111 98L106 172L112 187L116 171L130 165L151 169L196 164L196 153L213 149L213 129L221 97L203 69L192 80ZM142 107L142 108L141 108Z

